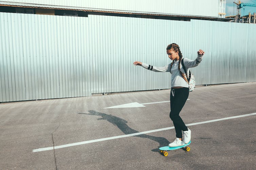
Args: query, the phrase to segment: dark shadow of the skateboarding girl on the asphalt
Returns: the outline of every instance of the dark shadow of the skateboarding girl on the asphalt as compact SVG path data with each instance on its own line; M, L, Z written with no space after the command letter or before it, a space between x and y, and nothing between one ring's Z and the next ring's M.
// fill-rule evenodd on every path
M124 132L126 135L132 134L132 133L138 133L139 131L134 130L132 128L130 128L127 125L127 121L121 118L118 118L116 116L112 116L112 115L108 115L105 113L99 113L96 111L89 111L89 113L78 113L78 114L84 114L84 115L94 115L94 116L101 116L102 118L99 118L97 120L107 120L108 122L112 123L113 125L117 126L120 130L122 130L122 132ZM153 141L156 141L159 143L159 147L162 146L167 146L170 142L162 137L154 137L154 136L150 136L150 135L146 135L146 134L141 134L141 135L136 135L135 137L140 137L140 138L148 138L151 139ZM159 149L152 149L151 151L153 152L158 152Z

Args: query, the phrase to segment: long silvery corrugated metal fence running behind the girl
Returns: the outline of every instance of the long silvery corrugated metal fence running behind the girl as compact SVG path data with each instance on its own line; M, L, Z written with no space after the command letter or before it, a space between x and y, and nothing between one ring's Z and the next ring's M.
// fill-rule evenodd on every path
M256 81L256 25L89 15L0 13L0 102L170 88L166 46L184 57L197 84Z

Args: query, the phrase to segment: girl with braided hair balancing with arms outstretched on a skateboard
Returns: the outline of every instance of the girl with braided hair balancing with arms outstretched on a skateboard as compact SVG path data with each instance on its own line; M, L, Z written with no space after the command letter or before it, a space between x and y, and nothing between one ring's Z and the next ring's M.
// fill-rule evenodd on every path
M188 81L184 69L182 68L181 60L183 59L187 75L189 75L189 68L196 67L201 62L204 51L199 50L196 60L183 58L180 47L172 43L167 46L166 52L172 62L164 67L150 66L146 63L134 62L134 65L142 66L148 70L155 72L170 72L171 73L171 94L170 103L171 111L170 118L173 122L176 131L176 140L169 144L169 147L183 146L191 140L191 130L187 128L183 120L179 116L182 107L188 98L189 88ZM183 140L182 140L183 138Z

